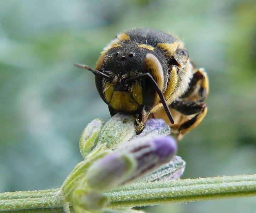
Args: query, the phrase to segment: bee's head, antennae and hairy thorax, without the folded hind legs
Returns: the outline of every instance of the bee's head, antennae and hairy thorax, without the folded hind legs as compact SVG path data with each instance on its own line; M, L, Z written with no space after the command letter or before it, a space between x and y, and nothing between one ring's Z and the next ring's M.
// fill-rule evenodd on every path
M117 35L104 48L95 70L76 66L94 73L96 87L111 116L135 116L137 134L143 131L149 114L161 109L174 124L170 105L186 95L195 73L178 38L148 28Z

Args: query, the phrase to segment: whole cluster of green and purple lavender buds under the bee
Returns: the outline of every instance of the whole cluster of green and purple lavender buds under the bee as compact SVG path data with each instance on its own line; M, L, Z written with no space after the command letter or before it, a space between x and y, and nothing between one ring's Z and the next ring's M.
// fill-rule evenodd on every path
M135 135L134 118L115 115L106 124L95 119L85 127L80 138L84 161L75 166L61 187L66 203L77 213L129 212L108 209L104 193L132 182L178 179L185 162L174 156L176 141L167 136L170 127L161 119L148 120L145 130Z

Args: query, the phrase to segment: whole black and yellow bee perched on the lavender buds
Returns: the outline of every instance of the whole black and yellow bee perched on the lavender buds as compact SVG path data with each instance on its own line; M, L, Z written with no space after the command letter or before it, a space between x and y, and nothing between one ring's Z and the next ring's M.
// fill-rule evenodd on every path
M103 49L95 70L74 65L95 75L111 116L134 116L137 135L148 118L162 118L180 140L207 113L207 73L189 59L181 40L168 33L131 29L116 35Z

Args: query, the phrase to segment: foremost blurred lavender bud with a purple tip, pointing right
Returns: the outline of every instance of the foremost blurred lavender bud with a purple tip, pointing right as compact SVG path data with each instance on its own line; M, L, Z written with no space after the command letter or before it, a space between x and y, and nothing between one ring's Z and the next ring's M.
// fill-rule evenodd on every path
M87 184L108 190L150 174L168 163L177 145L171 136L148 135L120 145L88 169Z

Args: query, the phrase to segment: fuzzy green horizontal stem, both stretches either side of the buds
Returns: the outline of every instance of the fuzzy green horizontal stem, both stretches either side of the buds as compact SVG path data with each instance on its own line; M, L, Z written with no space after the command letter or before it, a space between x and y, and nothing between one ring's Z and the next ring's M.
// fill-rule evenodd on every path
M135 183L105 193L110 208L256 196L256 175ZM0 211L63 213L59 189L0 193ZM19 210L19 211L17 211ZM71 209L72 211L72 209Z

